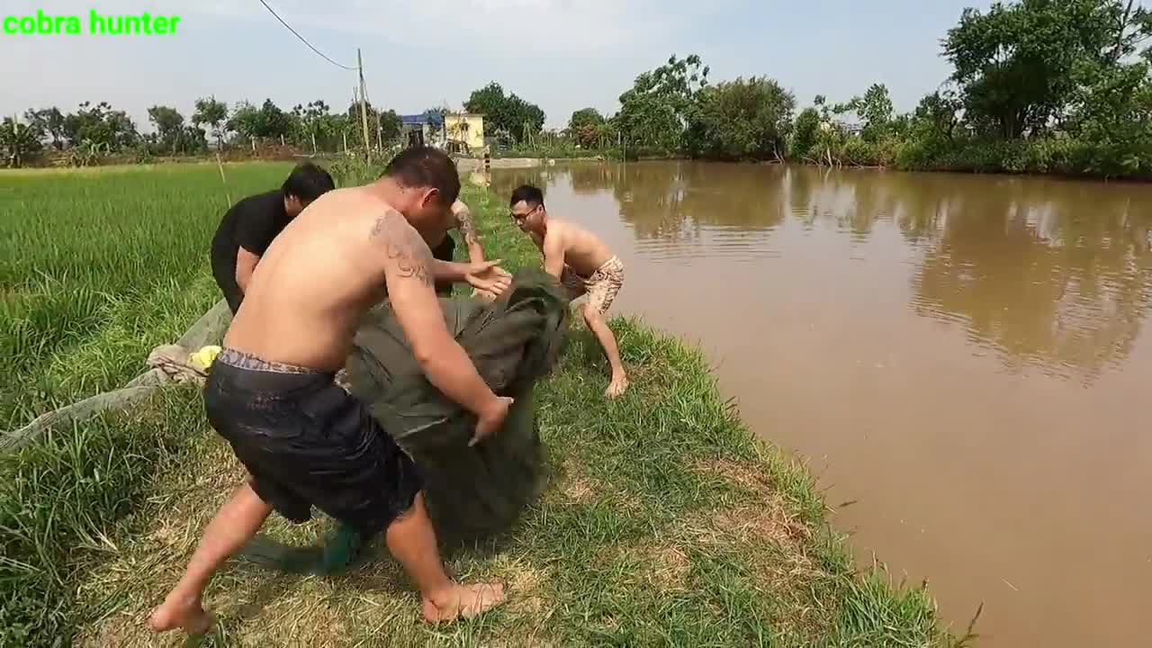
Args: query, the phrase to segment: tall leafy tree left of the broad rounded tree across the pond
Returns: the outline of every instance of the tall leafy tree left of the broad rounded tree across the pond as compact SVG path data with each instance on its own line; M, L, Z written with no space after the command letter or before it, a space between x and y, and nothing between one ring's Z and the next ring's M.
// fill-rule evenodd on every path
M632 88L620 96L615 127L629 144L677 151L684 144L688 113L696 93L707 86L708 68L691 54L636 77Z

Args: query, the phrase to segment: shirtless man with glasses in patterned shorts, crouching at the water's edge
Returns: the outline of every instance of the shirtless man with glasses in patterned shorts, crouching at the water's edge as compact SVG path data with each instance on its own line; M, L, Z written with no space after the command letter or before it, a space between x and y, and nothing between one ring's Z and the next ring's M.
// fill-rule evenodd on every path
M544 254L544 270L560 279L569 299L588 294L582 307L584 322L604 347L612 366L612 382L604 395L616 398L628 389L628 376L620 361L616 338L604 321L624 281L624 264L591 232L566 220L551 218L544 206L544 193L530 184L511 193L511 218Z

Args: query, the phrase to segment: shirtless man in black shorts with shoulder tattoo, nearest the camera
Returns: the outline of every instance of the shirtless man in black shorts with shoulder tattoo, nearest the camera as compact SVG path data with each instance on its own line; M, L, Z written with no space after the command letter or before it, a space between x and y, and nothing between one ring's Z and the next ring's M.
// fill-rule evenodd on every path
M367 408L333 384L361 317L389 299L429 380L477 417L472 444L499 429L497 397L448 333L437 279L500 291L499 262L444 263L439 240L460 191L453 161L416 148L379 180L329 191L268 247L204 389L212 427L251 480L207 526L188 568L150 619L154 631L209 630L200 600L223 562L278 511L301 522L316 506L362 540L384 532L432 621L472 617L503 600L499 583L457 585L445 573L416 466Z

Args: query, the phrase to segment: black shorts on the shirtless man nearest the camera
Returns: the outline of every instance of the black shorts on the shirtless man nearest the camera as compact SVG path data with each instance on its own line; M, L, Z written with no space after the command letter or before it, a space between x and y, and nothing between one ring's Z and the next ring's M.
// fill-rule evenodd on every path
M316 506L372 536L420 490L416 465L331 372L225 349L204 406L256 493L294 522L309 520Z

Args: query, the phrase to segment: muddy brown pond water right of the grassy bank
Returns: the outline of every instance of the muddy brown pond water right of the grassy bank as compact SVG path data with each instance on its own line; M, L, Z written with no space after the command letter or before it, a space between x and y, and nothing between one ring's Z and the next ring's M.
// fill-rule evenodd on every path
M600 233L858 558L979 646L1147 646L1152 187L700 163L494 171Z

